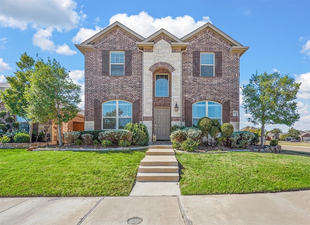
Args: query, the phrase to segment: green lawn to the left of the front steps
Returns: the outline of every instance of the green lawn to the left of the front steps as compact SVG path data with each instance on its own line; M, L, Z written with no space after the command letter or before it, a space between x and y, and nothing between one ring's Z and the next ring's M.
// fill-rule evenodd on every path
M0 150L0 197L128 196L145 151Z

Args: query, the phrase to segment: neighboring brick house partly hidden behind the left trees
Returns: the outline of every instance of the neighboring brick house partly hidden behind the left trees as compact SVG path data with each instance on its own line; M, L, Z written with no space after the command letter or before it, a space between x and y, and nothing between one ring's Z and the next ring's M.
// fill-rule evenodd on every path
M0 91L3 91L10 87L9 83L0 83ZM5 104L4 102L0 102L0 111L5 111ZM62 134L70 132L70 131L83 131L84 130L84 110L78 108L79 112L78 115L67 123L62 123ZM28 122L20 117L15 116L15 120L19 122L19 129L29 132L29 124ZM5 123L2 119L0 122ZM47 121L45 124L35 123L33 126L34 132L44 132L47 134L47 140L53 143L57 143L58 137L58 129L57 125L55 125L52 120Z

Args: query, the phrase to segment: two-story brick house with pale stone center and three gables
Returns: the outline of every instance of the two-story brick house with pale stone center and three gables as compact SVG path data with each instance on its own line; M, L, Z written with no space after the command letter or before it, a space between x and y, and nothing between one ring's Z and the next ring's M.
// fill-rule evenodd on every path
M76 46L85 57L85 130L140 122L169 140L171 125L205 116L239 130L239 64L248 47L212 24L179 39L164 29L144 38L115 22Z

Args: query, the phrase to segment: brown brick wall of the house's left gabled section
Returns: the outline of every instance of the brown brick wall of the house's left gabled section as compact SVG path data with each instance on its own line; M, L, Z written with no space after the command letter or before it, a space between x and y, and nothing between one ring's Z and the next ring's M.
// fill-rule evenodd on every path
M126 31L115 28L94 44L93 51L85 51L85 121L94 121L94 99L125 96L131 100L142 98L142 53L134 38ZM132 50L131 76L103 76L103 50ZM122 99L123 100L123 99ZM140 104L140 117L141 113Z

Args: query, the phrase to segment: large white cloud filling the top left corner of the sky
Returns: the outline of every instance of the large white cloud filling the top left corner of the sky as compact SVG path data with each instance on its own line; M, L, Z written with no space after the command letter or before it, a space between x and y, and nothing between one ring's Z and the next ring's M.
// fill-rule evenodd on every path
M29 24L40 28L72 30L86 17L75 10L74 0L1 0L0 24L3 27L27 29Z

